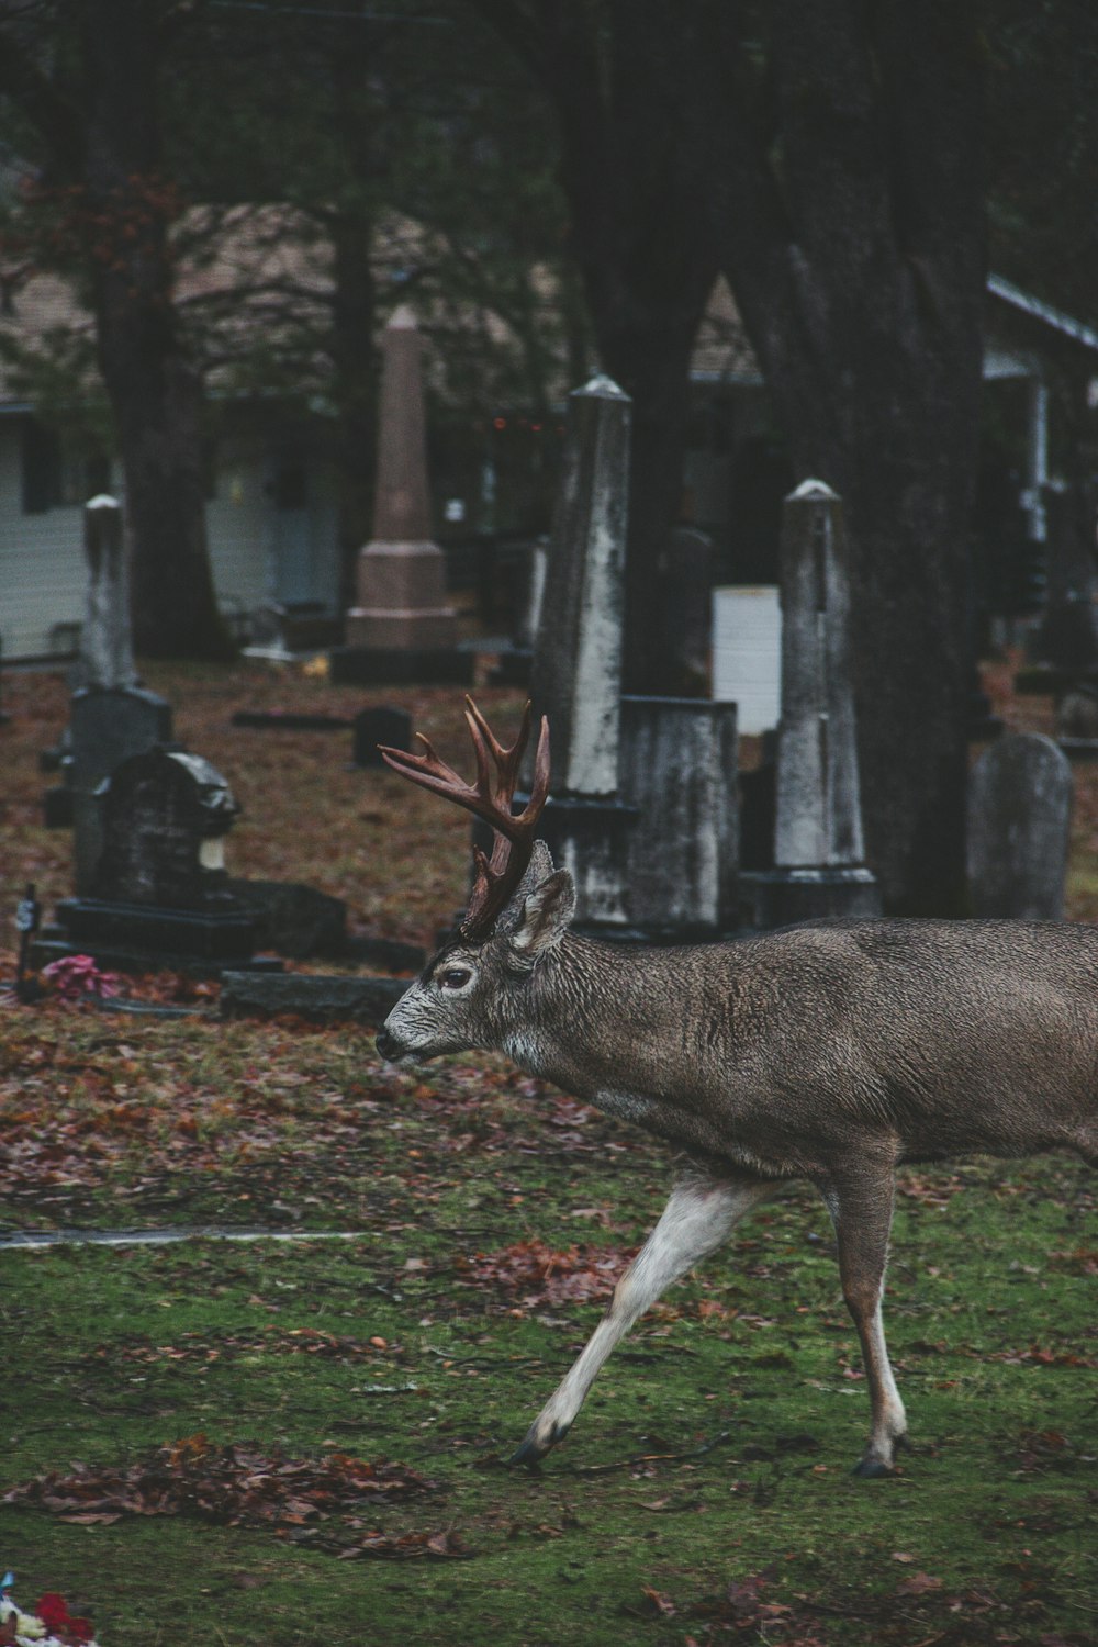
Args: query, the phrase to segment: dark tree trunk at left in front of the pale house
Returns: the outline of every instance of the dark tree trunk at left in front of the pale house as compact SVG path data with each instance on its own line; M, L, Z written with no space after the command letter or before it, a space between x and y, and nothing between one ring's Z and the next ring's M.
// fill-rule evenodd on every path
M173 199L158 173L158 20L145 0L87 0L81 25L82 222L125 471L135 647L151 657L229 657L206 542L202 390L173 308Z

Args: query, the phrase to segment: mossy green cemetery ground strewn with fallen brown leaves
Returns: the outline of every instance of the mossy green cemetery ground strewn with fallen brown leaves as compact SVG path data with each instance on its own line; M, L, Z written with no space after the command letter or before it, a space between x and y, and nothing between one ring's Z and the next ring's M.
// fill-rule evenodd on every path
M347 771L349 733L230 726L351 715L361 688L150 677L244 804L234 873L430 942L463 899L456 809ZM999 713L1047 728L1007 679L988 679ZM464 766L454 688L384 697ZM504 726L519 702L477 698ZM35 879L51 904L69 835L40 827L36 758L63 684L8 675L5 708L5 898ZM1098 774L1077 784L1070 914L1095 919ZM2 944L10 980L10 909ZM184 978L127 990L198 1011L0 1010L3 1232L333 1239L0 1250L0 1570L23 1606L63 1591L104 1647L1095 1640L1080 1161L900 1174L886 1323L914 1449L892 1479L848 1474L864 1380L798 1186L665 1295L528 1474L505 1458L655 1222L668 1151L497 1057L407 1075L365 1028L226 1023Z

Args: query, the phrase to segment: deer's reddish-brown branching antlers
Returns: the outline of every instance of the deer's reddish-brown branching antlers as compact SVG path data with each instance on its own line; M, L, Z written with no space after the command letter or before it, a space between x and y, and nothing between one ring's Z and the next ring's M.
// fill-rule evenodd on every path
M492 825L492 856L487 858L479 847L472 848L476 878L469 907L461 922L466 937L486 937L510 901L533 853L538 819L548 797L548 720L545 715L542 716L530 799L517 815L512 815L510 804L519 781L519 763L530 741L530 705L527 703L523 710L522 726L510 749L504 749L494 738L472 698L466 698L466 721L476 753L476 784L468 784L454 772L453 766L446 766L421 731L416 733L416 738L423 744L423 754L388 749L385 744L379 744L379 749L385 763L402 777L443 796L446 800L454 800L459 807Z

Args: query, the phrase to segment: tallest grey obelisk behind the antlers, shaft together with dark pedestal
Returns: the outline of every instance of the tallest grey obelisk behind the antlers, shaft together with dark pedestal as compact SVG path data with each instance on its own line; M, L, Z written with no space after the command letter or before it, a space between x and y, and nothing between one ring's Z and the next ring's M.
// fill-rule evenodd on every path
M553 728L542 833L576 881L581 924L627 922L619 787L621 657L632 402L609 377L568 397L561 476L533 652L535 718Z

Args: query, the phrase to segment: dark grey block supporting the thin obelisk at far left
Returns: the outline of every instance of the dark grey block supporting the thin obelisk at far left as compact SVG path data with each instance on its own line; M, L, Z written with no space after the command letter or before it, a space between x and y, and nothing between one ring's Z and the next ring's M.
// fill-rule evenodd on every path
M171 705L142 687L82 687L69 728L76 891L89 894L104 850L100 786L130 756L171 743Z

